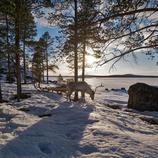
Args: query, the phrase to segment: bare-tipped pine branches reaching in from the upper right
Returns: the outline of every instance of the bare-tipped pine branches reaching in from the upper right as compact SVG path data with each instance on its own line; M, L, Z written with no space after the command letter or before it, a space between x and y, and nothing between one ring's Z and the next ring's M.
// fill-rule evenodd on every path
M99 66L111 62L111 68L126 56L138 52L154 57L158 47L156 17L157 0L108 0L100 10L100 25L104 26L105 45ZM110 30L110 31L109 31ZM142 53L142 54L143 54Z

